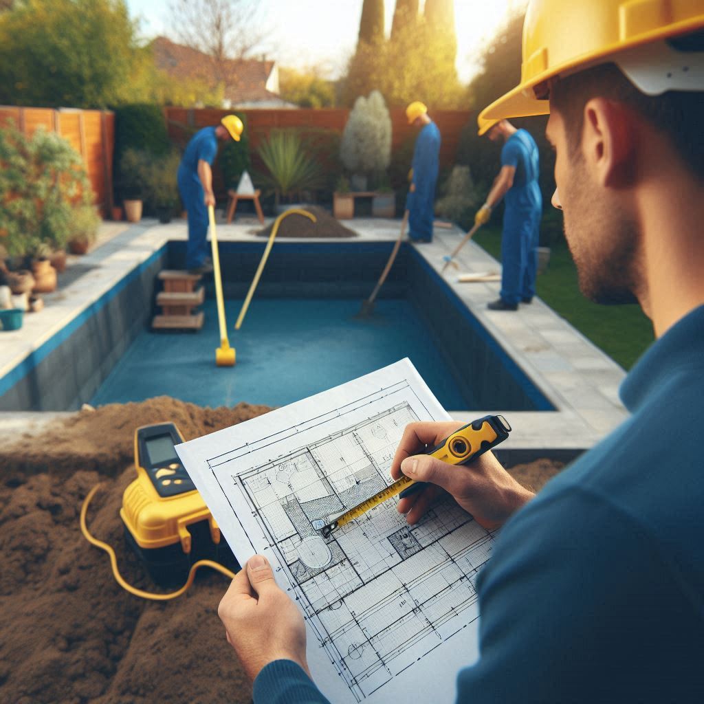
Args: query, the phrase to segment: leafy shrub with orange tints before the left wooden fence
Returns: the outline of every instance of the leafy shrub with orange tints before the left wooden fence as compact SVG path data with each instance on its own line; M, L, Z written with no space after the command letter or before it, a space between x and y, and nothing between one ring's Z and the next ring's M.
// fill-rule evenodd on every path
M58 134L0 130L0 229L12 256L46 256L73 231L76 208L92 202L83 162Z

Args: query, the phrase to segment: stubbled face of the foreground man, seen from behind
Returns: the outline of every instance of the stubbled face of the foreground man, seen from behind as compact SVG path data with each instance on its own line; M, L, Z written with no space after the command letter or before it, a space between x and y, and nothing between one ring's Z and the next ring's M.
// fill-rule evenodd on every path
M552 203L565 218L579 288L595 303L637 303L636 222L624 211L618 194L593 178L582 144L570 149L558 111L550 114L546 137L555 149L557 188Z

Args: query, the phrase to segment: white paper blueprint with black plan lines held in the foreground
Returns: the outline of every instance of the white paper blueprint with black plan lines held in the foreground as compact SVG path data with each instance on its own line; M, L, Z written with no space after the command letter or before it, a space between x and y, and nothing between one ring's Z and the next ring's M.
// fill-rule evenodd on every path
M477 658L474 579L494 539L454 502L415 526L393 499L328 539L312 527L391 484L408 423L446 419L403 360L178 446L238 560L267 555L296 600L334 703L452 701Z

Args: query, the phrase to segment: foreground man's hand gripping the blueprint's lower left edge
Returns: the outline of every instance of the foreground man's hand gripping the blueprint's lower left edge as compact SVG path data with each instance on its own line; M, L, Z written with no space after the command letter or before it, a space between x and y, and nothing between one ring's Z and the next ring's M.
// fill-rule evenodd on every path
M227 642L252 680L274 660L293 660L308 672L306 624L261 555L254 555L237 572L220 601L218 616L225 624Z

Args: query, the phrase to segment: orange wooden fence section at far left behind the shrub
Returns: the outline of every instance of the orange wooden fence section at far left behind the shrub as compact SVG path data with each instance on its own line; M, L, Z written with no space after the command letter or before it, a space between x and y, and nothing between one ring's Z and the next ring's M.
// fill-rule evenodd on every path
M61 134L83 158L103 216L113 206L113 148L115 114L100 110L73 108L15 108L0 106L0 127L14 122L23 134L31 136L39 127Z

